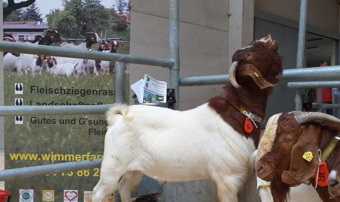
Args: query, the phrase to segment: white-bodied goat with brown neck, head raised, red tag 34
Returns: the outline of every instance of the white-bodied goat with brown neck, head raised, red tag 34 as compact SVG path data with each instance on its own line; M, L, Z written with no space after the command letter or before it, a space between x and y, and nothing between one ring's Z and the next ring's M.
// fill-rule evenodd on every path
M234 54L224 97L188 111L143 105L116 105L107 112L104 157L93 202L117 189L122 201L143 174L166 182L211 179L220 201L238 201L251 175L258 128L245 132L246 117L237 108L264 118L272 86L282 73L277 42L268 35ZM235 105L235 107L233 106ZM171 124L173 123L173 124Z

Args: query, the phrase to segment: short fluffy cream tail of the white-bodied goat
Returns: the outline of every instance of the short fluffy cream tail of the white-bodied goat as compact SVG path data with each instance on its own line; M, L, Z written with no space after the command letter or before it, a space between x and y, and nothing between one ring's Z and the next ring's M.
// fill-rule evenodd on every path
M129 106L125 104L116 104L115 106L110 107L106 112L106 121L108 123L107 129L115 124L116 118L119 116L123 116L124 123L132 121L133 118L127 116L128 112Z

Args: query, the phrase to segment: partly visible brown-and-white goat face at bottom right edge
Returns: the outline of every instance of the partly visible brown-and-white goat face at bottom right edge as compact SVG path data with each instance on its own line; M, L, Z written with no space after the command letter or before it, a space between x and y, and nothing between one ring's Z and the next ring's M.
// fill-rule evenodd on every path
M340 159L334 164L334 168L329 173L328 177L328 190L329 194L337 201L340 201Z

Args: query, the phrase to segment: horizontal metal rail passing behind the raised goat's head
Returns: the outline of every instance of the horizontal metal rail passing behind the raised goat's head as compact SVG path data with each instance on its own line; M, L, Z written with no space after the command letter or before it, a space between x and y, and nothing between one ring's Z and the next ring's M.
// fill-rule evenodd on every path
M312 67L284 70L279 82L325 81L338 80L339 78L340 66ZM225 85L228 83L228 74L180 78L180 86Z

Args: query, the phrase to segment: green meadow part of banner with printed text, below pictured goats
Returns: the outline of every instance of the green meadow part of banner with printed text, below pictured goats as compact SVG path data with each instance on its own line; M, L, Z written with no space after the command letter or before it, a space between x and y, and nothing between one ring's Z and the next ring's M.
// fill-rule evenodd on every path
M4 71L4 83L6 106L115 103L112 74L68 77ZM106 127L104 115L5 117L5 169L102 158ZM90 201L99 173L95 168L7 181L5 189L11 201Z

